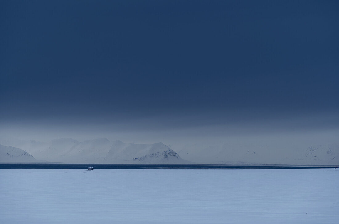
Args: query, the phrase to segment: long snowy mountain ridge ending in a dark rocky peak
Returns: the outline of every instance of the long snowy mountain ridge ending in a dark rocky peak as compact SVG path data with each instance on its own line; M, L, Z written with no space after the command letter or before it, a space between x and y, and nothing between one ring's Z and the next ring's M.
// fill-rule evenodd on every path
M187 164L163 143L133 144L106 138L79 142L74 139L56 139L51 142L21 142L21 147L35 158L63 163L153 163Z

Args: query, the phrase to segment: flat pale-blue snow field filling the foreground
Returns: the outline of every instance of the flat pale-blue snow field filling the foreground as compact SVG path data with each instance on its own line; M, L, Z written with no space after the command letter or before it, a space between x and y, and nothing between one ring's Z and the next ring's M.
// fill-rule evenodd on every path
M1 169L0 223L338 223L339 169Z

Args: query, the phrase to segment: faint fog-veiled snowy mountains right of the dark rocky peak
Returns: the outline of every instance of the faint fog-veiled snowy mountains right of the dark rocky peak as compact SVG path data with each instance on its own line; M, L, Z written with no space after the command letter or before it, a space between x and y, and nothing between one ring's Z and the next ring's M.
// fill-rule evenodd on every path
M314 146L292 143L278 145L229 142L185 145L178 155L196 163L211 164L314 164L338 165L339 144Z

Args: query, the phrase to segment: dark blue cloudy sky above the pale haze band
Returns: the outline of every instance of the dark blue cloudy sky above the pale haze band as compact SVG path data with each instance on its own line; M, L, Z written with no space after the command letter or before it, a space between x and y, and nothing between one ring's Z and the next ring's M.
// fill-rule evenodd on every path
M309 0L1 1L1 120L338 113L338 12Z

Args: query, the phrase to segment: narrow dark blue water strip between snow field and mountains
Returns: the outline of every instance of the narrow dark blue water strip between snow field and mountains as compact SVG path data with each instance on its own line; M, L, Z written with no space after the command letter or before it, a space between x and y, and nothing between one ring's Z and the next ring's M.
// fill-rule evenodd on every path
M332 165L213 165L213 164L0 164L0 169L317 169Z

